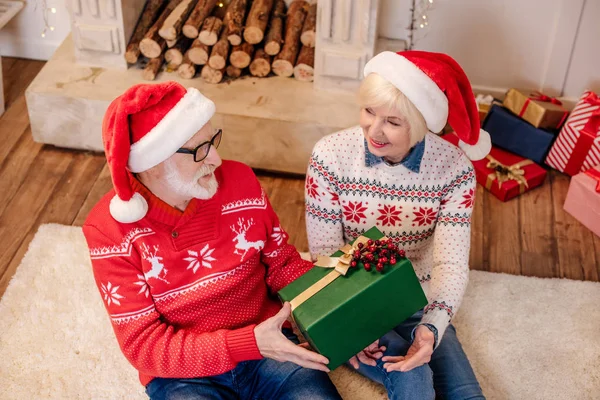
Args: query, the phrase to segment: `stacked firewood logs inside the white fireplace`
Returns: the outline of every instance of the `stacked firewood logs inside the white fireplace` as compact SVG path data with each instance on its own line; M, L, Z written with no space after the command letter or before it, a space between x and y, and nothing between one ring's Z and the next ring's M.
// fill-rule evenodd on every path
M317 5L294 0L147 0L125 59L219 83L243 75L312 81Z

